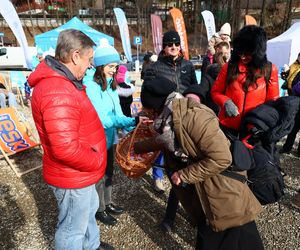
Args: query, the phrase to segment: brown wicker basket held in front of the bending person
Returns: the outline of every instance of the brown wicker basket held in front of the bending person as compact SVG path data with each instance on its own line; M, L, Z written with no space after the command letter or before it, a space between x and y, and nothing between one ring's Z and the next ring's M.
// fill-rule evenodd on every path
M116 148L116 161L124 174L129 178L139 178L144 175L151 167L154 160L157 158L158 152L150 152L145 154L134 153L134 143L143 141L153 137L155 131L142 123L139 123L135 130L128 133Z

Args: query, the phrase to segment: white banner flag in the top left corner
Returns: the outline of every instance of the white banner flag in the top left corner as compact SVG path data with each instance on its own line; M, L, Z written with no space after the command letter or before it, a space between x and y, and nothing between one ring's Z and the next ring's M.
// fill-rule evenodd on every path
M15 37L17 38L18 43L23 49L26 67L31 69L32 55L29 52L26 36L18 14L9 0L1 0L0 13L4 17L5 21L7 22Z

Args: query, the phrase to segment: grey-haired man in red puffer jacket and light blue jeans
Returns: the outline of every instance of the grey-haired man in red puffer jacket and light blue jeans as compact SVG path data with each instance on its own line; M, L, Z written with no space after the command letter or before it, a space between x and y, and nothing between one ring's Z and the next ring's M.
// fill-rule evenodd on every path
M62 31L55 58L47 56L28 78L34 87L32 114L44 149L43 176L59 209L55 249L100 245L95 183L105 173L106 141L81 82L91 66L94 45L81 31ZM100 248L107 245L101 243Z

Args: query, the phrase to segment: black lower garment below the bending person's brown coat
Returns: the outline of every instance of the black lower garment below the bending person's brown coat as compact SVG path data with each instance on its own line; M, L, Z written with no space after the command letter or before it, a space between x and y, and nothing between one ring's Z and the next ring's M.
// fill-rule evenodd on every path
M254 221L245 225L214 232L210 226L200 224L196 250L263 250L263 244Z

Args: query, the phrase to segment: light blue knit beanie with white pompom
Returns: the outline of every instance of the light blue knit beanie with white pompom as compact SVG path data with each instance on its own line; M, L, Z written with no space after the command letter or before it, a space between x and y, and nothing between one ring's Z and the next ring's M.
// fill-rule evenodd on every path
M114 47L109 45L106 38L100 40L100 45L96 48L94 53L95 67L104 66L110 63L119 63L120 56Z

